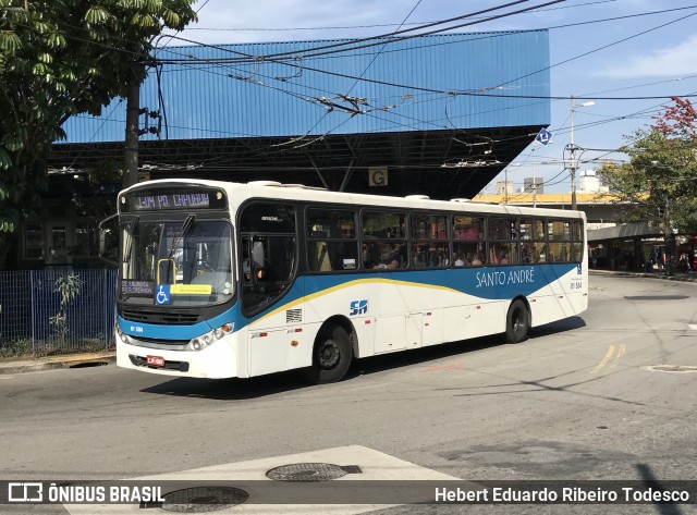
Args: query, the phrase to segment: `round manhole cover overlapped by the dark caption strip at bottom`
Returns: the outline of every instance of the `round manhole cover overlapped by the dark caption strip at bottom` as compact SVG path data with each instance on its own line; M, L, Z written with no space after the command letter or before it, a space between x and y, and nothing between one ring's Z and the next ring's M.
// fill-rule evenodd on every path
M242 504L249 494L232 487L195 487L164 495L161 508L175 513L208 513Z

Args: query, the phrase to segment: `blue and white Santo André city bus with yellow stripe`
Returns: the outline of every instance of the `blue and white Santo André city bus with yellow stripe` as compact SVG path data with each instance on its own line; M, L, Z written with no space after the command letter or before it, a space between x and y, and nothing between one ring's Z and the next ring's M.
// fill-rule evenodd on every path
M307 369L539 326L588 306L585 214L164 180L119 194L118 365Z

